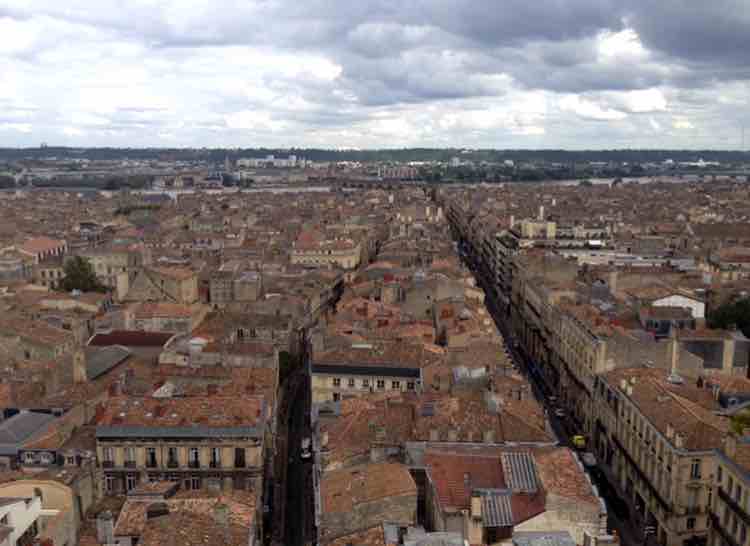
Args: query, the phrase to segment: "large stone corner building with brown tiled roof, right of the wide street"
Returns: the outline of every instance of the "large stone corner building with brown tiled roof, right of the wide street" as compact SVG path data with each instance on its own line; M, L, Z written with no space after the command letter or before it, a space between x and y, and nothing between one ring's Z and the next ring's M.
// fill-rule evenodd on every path
M712 389L653 368L615 370L595 384L602 466L663 546L706 544L714 448L728 430Z

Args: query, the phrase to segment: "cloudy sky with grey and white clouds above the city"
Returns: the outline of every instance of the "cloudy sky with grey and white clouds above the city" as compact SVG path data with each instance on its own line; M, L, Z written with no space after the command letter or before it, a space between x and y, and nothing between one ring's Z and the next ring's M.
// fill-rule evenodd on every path
M750 148L750 0L0 0L0 146Z

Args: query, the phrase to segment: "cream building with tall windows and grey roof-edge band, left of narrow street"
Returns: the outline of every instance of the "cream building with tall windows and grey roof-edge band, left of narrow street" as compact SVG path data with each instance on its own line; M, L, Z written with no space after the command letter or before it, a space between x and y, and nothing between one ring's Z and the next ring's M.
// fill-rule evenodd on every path
M111 399L96 418L105 494L139 483L262 491L262 396Z

